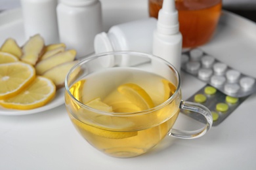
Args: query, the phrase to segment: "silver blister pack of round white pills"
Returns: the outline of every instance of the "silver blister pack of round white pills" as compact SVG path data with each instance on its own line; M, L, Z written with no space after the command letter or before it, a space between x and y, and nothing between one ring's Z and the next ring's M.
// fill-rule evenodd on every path
M255 78L229 67L200 48L182 53L181 68L232 97L245 97L256 92Z

